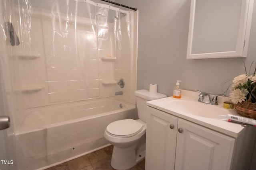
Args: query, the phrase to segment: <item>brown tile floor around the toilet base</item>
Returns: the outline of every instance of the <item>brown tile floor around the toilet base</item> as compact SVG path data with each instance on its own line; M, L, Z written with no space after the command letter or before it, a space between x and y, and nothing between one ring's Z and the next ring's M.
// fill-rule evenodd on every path
M113 146L109 146L46 170L114 170L110 161ZM145 159L129 170L145 170Z

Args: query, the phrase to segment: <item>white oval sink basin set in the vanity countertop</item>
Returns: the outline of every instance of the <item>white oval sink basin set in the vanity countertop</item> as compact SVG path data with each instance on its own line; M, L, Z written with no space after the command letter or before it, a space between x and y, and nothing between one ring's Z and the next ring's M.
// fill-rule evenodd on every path
M237 115L232 109L225 109L219 105L210 105L189 100L171 100L168 102L168 107L177 113L186 113L214 119L225 119L225 117L221 115Z

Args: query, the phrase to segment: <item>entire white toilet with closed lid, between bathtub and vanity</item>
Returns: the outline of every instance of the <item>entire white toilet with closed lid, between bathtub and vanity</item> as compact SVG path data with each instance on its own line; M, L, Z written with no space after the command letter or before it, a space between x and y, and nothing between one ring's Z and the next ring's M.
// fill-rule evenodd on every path
M126 170L145 158L146 150L146 102L166 98L165 94L149 90L135 92L139 119L123 119L110 123L105 139L114 145L111 166L116 170Z

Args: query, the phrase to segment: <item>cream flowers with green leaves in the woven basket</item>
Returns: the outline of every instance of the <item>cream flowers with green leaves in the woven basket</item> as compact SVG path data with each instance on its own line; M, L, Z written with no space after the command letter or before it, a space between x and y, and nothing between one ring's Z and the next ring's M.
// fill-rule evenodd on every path
M244 67L246 74L236 76L231 86L230 98L234 104L238 104L238 102L256 103L256 66L252 74L247 74L245 64Z

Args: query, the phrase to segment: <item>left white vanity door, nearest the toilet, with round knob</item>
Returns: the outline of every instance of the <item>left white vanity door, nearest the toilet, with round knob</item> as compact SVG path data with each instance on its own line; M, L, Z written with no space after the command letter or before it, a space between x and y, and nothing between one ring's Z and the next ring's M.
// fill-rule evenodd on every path
M174 170L178 117L147 107L146 170Z

